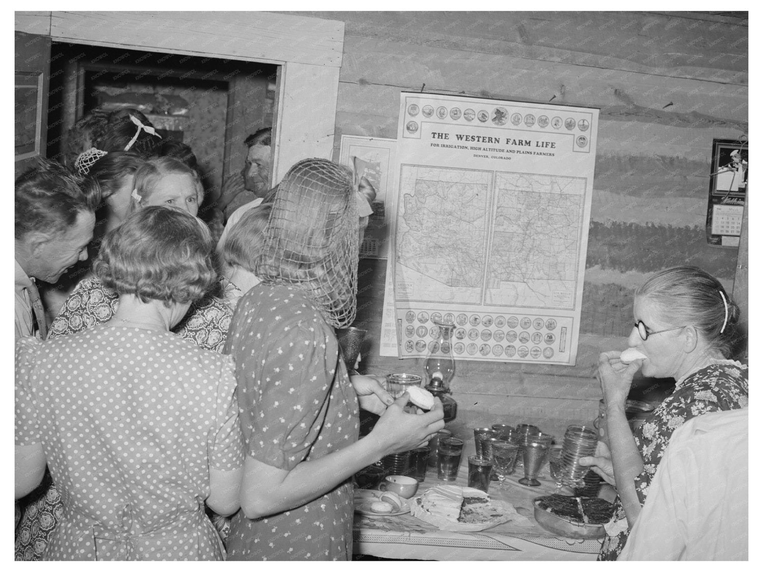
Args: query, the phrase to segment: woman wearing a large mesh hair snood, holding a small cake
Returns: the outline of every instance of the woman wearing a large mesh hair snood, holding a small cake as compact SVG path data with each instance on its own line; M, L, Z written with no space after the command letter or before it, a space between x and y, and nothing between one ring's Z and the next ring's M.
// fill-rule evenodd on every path
M403 396L358 440L358 396L334 334L355 319L358 241L349 170L291 167L256 260L262 283L240 299L226 344L246 451L229 560L349 560L353 473L444 425L439 400L410 415Z

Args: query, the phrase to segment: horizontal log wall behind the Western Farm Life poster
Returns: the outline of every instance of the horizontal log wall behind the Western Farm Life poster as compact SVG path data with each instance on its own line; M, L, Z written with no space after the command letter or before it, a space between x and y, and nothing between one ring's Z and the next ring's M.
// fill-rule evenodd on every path
M303 12L345 23L342 134L397 137L399 92L600 108L581 344L575 367L459 361L459 422L591 419L597 354L625 347L633 289L695 263L732 289L736 249L707 247L713 137L748 132L748 21L698 12ZM418 372L378 356L383 261L361 263L359 322L371 372ZM555 422L552 422L554 419Z

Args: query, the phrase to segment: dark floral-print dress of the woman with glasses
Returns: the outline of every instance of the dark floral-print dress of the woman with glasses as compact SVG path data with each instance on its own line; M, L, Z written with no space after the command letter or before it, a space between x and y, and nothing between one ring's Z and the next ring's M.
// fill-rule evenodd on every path
M644 460L644 470L635 479L636 494L642 506L673 431L698 415L746 407L749 394L747 373L747 366L737 361L716 360L710 366L684 376L675 384L674 392L636 429L633 438ZM625 518L620 497L617 497L613 521L622 522L620 528L625 528ZM627 529L605 537L599 560L617 560L627 540Z

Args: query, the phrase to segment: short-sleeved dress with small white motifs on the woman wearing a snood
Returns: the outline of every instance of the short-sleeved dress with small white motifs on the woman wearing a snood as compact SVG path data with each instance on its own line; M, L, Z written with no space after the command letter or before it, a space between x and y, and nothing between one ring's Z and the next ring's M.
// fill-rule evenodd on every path
M279 469L357 441L358 399L339 344L304 292L259 284L240 299L226 347L236 360L246 454ZM353 485L291 510L233 516L229 560L350 560Z

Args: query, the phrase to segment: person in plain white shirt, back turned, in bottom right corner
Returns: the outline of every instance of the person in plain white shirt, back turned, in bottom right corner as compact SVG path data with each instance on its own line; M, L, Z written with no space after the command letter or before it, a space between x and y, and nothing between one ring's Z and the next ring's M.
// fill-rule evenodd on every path
M748 409L674 431L618 560L748 559Z

